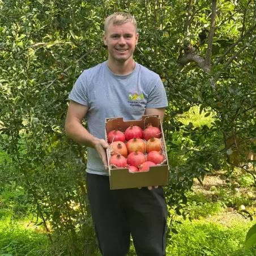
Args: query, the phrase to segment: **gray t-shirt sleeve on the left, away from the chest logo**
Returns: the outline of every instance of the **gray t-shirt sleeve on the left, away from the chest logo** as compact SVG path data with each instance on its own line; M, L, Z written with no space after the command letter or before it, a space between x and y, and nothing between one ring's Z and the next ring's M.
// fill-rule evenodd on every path
M78 80L76 80L74 87L70 92L69 99L88 106L87 81L84 74L81 74Z

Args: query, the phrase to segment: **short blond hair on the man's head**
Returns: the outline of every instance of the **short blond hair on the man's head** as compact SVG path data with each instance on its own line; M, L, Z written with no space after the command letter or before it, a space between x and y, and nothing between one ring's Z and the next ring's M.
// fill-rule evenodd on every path
M114 12L105 19L104 33L107 32L110 23L122 25L126 22L130 22L131 24L133 24L135 27L135 31L137 31L137 22L134 16L131 16L131 14L128 14L126 12Z

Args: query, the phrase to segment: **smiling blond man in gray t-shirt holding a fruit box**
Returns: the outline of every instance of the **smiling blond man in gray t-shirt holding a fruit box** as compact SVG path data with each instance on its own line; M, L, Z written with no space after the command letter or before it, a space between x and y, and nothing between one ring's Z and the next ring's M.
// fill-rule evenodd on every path
M130 234L137 255L165 255L167 205L163 187L109 189L105 118L140 120L168 106L159 75L134 62L139 34L136 20L124 12L105 20L103 40L108 61L85 70L70 93L67 136L88 147L87 192L95 231L103 256L129 253ZM131 104L130 97L143 95ZM88 130L82 121L86 117Z

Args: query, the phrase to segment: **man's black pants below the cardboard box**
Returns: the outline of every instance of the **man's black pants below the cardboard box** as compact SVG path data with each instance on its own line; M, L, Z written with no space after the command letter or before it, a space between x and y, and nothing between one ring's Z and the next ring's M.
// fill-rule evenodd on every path
M87 173L92 219L103 256L164 256L167 205L163 187L109 189L109 177Z

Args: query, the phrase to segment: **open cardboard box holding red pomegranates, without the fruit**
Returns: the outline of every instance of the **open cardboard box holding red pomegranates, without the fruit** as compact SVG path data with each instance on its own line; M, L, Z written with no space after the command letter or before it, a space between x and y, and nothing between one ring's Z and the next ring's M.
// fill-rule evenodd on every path
M107 142L107 134L109 133L109 131L118 129L124 133L130 125L139 126L142 130L144 130L147 127L148 123L151 123L152 126L159 127L161 131L161 140L163 143L163 151L165 153L164 162L161 165L150 167L150 170L148 172L130 173L128 168L117 168L114 165L110 166L110 152L107 151L110 189L130 189L133 187L164 186L168 184L168 157L165 146L163 127L161 125L158 115L142 116L142 120L133 121L123 121L122 117L106 118L105 139Z

